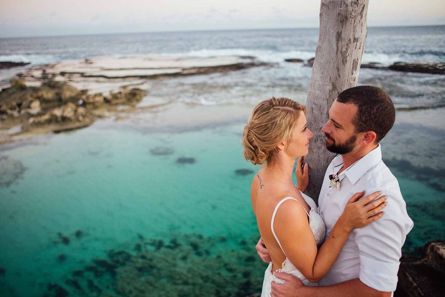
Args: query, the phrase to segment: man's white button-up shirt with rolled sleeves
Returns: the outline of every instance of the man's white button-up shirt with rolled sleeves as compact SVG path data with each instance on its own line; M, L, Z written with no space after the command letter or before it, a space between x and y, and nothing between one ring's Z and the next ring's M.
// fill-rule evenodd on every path
M329 164L320 191L318 203L326 224L325 240L355 193L366 190L366 196L383 191L381 195L388 195L388 205L379 220L352 230L335 264L319 284L333 285L359 277L371 288L394 291L401 248L413 228L399 183L382 161L380 144L340 173L339 191L330 187L329 175L336 174L342 166L343 159L338 155Z

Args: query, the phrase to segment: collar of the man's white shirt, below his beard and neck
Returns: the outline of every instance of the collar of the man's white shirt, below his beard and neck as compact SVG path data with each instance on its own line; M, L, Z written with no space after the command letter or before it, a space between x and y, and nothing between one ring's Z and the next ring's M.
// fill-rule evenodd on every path
M365 174L366 171L379 163L381 159L382 151L379 143L375 149L364 155L361 159L356 161L356 163L353 163L351 166L346 168L342 173L340 173L340 175L346 175L349 181L354 185L360 179L360 177ZM341 155L339 155L334 159L334 161L335 162L332 163L334 167L333 169L335 170L336 166L338 166L337 171L339 171L341 168L339 165L343 164L343 158L341 157Z

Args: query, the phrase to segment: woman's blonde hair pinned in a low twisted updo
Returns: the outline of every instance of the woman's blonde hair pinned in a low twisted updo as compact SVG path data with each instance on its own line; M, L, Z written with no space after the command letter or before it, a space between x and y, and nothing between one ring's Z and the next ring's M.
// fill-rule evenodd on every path
M244 126L244 158L254 165L270 163L275 148L290 140L300 111L306 114L306 107L288 98L259 102Z

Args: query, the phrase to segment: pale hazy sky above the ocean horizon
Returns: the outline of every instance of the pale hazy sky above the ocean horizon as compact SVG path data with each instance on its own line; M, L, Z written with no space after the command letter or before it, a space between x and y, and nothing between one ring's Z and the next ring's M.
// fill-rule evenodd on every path
M0 38L316 28L320 0L0 0ZM445 0L370 0L368 26L445 24Z

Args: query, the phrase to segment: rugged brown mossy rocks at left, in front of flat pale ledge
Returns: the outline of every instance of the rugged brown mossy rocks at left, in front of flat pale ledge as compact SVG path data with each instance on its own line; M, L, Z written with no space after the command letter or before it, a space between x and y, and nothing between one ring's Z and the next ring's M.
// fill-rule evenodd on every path
M21 133L73 130L91 125L112 106L135 106L144 96L145 91L138 88L123 87L104 97L61 81L28 87L13 79L11 87L0 92L0 123L2 129L21 125Z

